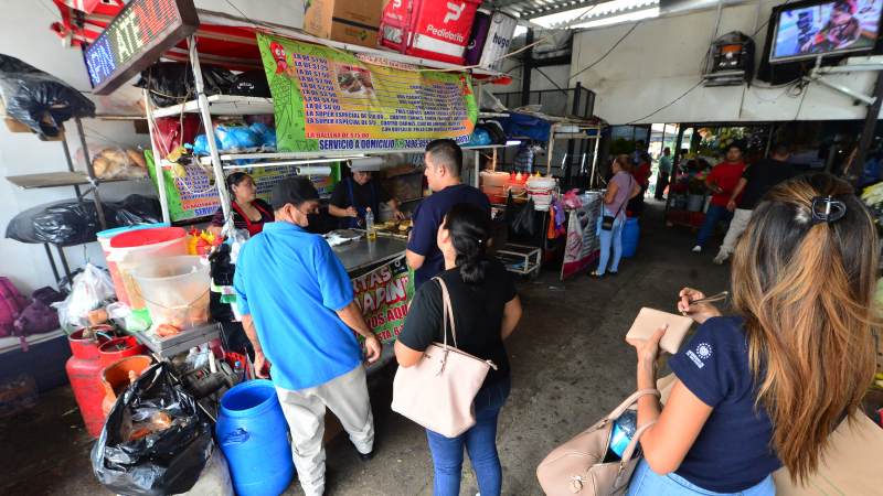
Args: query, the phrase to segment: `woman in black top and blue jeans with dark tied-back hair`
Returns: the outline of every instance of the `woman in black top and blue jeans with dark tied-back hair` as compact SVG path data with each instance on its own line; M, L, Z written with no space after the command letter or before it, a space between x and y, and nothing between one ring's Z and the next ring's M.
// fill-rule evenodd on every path
M448 212L436 238L445 257L445 272L439 277L450 294L457 344L461 351L497 365L476 396L476 424L471 429L457 438L426 431L435 465L436 496L459 494L464 446L469 452L481 494L499 496L502 485L497 418L510 389L503 339L521 319L521 302L509 272L486 255L489 238L487 211L465 203ZM434 281L421 285L395 343L398 365L417 364L433 342L444 341L442 317L442 288ZM453 341L448 333L448 343Z

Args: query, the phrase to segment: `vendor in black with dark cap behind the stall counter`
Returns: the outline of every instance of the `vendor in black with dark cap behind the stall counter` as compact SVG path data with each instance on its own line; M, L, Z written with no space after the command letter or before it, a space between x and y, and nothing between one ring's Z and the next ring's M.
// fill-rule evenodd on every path
M363 228L368 208L377 216L381 203L392 208L395 218L404 218L398 202L372 179L371 172L355 171L334 188L328 213L341 219L341 228Z

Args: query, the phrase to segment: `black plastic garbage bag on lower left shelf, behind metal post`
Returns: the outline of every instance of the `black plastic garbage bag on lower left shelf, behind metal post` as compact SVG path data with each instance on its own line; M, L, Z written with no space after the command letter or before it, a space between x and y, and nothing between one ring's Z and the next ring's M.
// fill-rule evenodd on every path
M121 202L105 202L102 206L108 229L158 223L162 218L159 202L150 196L130 195ZM21 242L75 246L95 241L100 230L94 202L65 200L19 213L7 225L6 236Z

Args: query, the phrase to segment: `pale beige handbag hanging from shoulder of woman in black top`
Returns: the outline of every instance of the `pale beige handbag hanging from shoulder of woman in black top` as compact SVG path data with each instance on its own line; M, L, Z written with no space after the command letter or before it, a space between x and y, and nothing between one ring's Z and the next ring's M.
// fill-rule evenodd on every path
M445 281L442 287L444 343L433 343L411 367L398 367L393 379L393 411L447 438L456 438L475 425L472 401L485 384L491 360L457 349L454 311ZM454 346L448 346L448 321Z

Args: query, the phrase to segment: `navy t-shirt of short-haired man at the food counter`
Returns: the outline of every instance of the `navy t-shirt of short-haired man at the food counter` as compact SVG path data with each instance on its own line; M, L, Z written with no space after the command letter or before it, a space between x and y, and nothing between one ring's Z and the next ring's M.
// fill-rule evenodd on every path
M488 211L488 216L490 216L490 202L485 193L466 184L448 186L433 193L414 211L414 227L411 230L407 249L426 257L423 266L414 273L415 289L445 269L445 258L436 245L436 235L438 226L442 225L442 220L445 219L450 207L458 203L478 205Z

